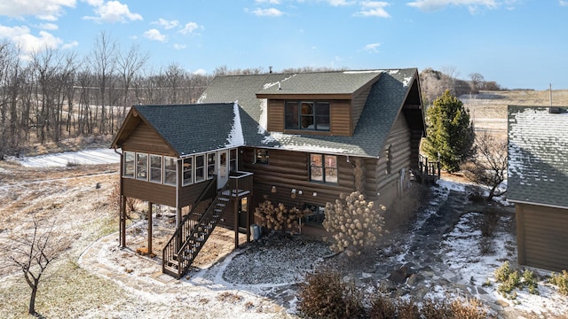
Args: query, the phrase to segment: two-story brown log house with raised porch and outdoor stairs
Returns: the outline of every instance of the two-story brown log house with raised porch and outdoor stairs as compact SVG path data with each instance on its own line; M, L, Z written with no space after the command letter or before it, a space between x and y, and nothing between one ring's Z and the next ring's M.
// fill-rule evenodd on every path
M309 208L303 231L321 231L342 192L388 206L418 169L424 132L415 68L227 75L198 104L133 106L111 147L123 197L176 208L163 264L181 276L217 223L248 232L266 197Z

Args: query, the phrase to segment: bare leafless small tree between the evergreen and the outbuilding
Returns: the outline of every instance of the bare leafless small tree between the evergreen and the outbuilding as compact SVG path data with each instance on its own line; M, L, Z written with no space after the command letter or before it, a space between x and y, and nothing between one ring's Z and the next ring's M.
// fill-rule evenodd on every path
M477 155L461 166L463 174L472 182L489 187L487 200L501 196L498 192L507 172L507 140L493 136L485 131L476 134Z

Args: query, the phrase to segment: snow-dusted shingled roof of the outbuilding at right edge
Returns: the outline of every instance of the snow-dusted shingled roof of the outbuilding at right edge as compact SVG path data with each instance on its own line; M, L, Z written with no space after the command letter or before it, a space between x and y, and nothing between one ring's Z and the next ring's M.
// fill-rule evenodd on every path
M568 208L568 113L509 105L508 199Z

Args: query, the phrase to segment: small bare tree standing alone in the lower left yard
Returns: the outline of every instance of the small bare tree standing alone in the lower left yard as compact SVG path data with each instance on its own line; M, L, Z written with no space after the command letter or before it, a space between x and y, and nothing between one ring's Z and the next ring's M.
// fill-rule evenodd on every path
M22 271L32 290L28 307L30 315L37 315L37 289L46 268L67 249L69 244L67 240L55 238L54 225L55 220L51 223L51 226L42 229L34 215L30 232L19 235L12 233L8 238L10 247L4 250L4 252L11 252L10 256L7 257L8 265Z

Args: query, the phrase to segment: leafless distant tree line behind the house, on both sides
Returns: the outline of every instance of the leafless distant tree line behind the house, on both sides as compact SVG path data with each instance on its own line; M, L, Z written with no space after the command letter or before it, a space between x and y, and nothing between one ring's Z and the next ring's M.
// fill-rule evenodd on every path
M0 43L0 159L30 144L59 143L77 136L114 135L131 105L195 103L217 75L262 74L263 67L192 74L172 63L154 70L138 46L122 48L105 32L85 57L73 51L45 49L26 56L13 43ZM332 71L297 67L281 73ZM454 70L421 73L422 96L430 104L446 89L459 96L479 89L500 89L481 74L470 82ZM492 84L493 83L493 84Z

